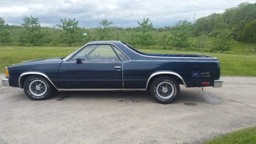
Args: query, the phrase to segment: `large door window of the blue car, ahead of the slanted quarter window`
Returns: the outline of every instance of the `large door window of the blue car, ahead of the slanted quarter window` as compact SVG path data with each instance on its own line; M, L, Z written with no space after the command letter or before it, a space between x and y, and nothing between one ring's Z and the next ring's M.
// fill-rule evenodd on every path
M113 48L108 44L95 44L89 45L80 50L70 60L76 58L91 61L120 61Z

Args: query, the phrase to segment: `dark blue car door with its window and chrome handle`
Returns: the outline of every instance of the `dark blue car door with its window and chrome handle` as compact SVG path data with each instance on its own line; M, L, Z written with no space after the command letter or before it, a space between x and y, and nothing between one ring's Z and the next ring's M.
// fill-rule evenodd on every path
M58 84L60 89L122 89L122 62L111 45L88 45L60 64Z

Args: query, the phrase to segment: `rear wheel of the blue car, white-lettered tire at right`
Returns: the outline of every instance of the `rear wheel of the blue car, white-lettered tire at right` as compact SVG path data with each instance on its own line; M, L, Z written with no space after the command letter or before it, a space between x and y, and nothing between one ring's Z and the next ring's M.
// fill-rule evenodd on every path
M150 86L150 94L161 104L170 104L180 94L180 85L176 80L168 76L156 78Z

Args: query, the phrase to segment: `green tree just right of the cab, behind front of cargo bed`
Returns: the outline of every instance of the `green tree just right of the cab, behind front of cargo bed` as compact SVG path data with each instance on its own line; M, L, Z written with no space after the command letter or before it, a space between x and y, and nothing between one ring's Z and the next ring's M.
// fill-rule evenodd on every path
M141 47L143 48L144 45L151 45L153 43L153 25L152 22L149 23L150 20L147 18L143 18L142 22L138 22L140 28L138 29L136 33L136 38L138 41L138 44L141 44Z

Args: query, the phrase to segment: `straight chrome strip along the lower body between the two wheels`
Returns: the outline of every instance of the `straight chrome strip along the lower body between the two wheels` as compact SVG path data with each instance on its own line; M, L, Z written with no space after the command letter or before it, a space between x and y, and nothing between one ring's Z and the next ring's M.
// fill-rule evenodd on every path
M68 91L133 91L133 90L138 90L138 91L145 91L146 89L58 89L60 92L68 92Z

